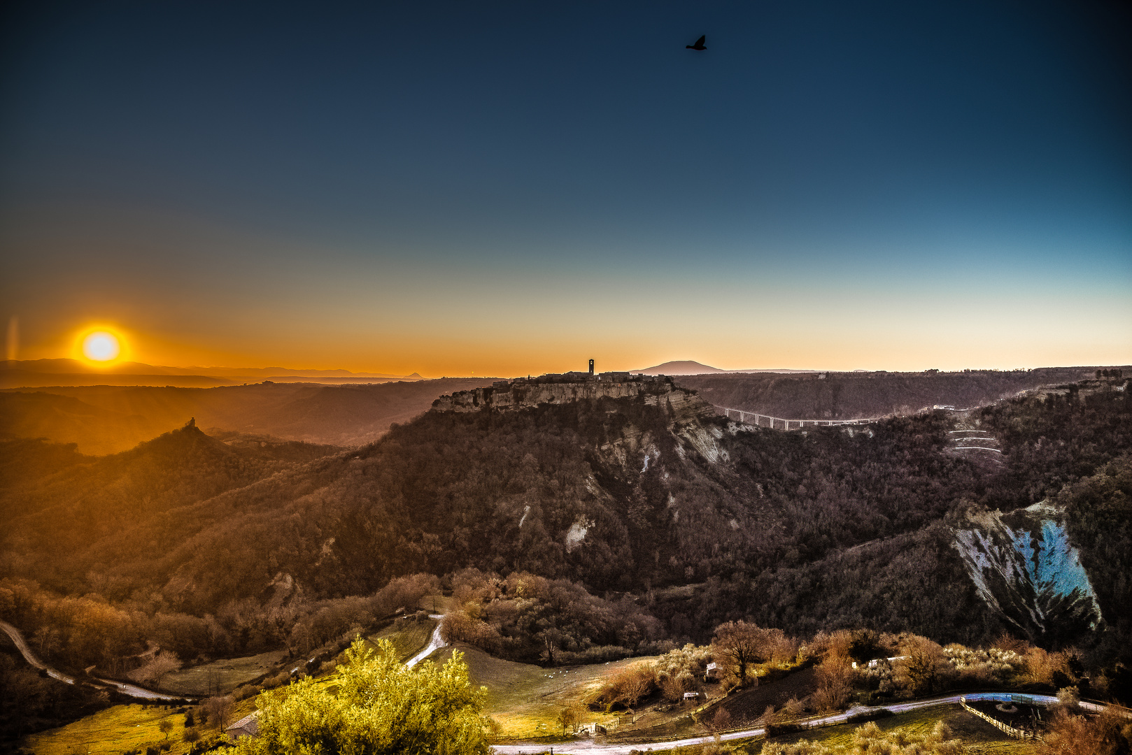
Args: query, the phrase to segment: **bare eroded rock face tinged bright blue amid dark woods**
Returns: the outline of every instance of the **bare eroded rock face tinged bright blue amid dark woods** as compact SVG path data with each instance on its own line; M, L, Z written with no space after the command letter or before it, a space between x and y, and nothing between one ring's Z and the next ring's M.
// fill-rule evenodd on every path
M1032 640L1097 628L1100 606L1060 509L1043 501L968 524L955 530L955 548L992 610Z

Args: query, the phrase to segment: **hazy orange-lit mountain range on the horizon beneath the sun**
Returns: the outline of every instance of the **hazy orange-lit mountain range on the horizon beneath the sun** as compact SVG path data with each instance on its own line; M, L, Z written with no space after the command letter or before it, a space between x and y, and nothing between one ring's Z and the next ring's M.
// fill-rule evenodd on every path
M290 367L160 367L143 362L118 362L92 368L76 359L6 360L0 362L0 387L59 385L177 385L207 388L247 381L276 383L374 383L421 380L420 375L351 372L350 370L294 369Z

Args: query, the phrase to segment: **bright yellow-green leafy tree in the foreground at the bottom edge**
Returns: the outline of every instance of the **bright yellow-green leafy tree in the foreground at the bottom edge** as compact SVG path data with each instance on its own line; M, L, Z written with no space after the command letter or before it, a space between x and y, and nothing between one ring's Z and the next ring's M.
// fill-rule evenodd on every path
M259 736L240 739L257 755L365 753L487 755L480 711L458 652L443 666L405 668L392 643L377 652L355 641L333 683L307 678L259 696Z

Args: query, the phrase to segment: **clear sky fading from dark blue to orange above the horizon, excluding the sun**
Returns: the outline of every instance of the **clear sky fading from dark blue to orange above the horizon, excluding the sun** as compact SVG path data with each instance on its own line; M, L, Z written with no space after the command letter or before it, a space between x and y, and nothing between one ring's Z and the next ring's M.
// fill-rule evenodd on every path
M22 359L1132 362L1127 3L3 12Z

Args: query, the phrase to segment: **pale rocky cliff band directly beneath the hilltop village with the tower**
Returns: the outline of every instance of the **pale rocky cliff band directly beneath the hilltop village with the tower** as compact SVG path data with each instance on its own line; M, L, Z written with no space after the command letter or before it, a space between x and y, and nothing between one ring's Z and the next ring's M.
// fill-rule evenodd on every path
M483 409L515 411L542 405L561 405L599 398L643 398L648 406L661 406L678 420L712 417L715 411L689 388L680 388L668 377L634 376L618 379L608 375L585 379L546 376L496 383L492 387L461 391L432 402L435 412L478 412Z

